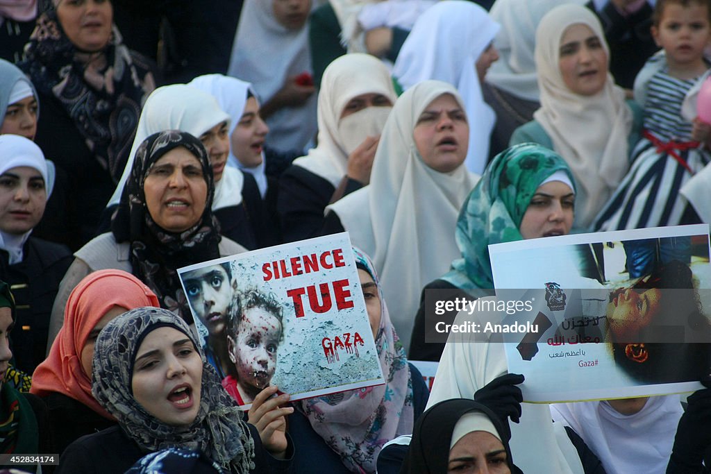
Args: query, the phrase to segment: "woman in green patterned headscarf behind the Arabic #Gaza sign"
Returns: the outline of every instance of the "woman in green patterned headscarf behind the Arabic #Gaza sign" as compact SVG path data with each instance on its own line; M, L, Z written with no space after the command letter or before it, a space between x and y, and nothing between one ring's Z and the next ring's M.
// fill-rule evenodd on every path
M519 144L499 153L464 201L456 223L461 258L425 289L493 289L488 246L566 235L573 221L574 178L563 159L543 146ZM480 296L492 294L483 291ZM475 293L476 296L476 293ZM444 343L424 343L424 291L410 342L410 359L439 360Z

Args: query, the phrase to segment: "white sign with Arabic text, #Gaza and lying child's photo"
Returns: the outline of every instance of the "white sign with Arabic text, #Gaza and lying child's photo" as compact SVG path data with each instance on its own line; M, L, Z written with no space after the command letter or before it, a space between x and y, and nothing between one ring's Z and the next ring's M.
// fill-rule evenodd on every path
M710 372L707 225L522 240L489 254L496 301L511 311L472 324L500 334L526 402L690 392Z

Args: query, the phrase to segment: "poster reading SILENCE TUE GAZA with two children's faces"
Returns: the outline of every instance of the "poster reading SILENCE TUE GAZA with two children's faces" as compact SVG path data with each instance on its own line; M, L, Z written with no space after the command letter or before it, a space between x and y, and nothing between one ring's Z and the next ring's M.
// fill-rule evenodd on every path
M208 361L245 409L385 383L348 234L178 269Z

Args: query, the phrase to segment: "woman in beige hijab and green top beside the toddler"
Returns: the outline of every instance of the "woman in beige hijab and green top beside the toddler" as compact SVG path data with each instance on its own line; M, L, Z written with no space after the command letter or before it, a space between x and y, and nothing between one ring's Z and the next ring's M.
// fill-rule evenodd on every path
M542 18L535 63L541 107L510 145L533 141L567 161L578 184L574 227L584 229L629 168L641 109L614 85L602 26L584 6L557 6Z

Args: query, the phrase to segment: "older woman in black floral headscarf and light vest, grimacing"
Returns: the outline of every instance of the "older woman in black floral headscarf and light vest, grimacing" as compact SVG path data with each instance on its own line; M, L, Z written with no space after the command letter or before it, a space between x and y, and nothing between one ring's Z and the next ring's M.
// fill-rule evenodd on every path
M208 153L200 140L176 130L146 138L136 152L112 232L76 252L62 280L52 308L49 340L54 340L64 321L69 293L92 271L107 268L134 274L156 293L161 308L192 323L176 270L245 251L218 232L212 211L214 193Z

